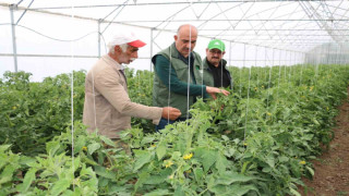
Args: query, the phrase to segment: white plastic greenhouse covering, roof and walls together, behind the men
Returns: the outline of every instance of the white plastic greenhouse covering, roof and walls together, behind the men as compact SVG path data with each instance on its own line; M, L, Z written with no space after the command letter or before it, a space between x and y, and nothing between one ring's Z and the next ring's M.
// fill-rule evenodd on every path
M148 44L130 66L151 70L149 58L169 46L186 23L198 28L195 51L204 57L209 39L222 39L225 59L238 66L291 65L324 44L349 45L345 0L0 1L0 75L24 70L39 81L88 70L120 28L135 30Z

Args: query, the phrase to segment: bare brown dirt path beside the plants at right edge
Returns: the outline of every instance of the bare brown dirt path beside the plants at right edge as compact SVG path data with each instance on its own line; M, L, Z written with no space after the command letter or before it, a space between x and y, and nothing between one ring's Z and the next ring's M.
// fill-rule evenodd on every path
M349 90L348 90L349 91ZM329 150L313 161L313 180L303 179L306 187L300 187L303 196L349 196L349 102L344 102L336 118L335 138Z

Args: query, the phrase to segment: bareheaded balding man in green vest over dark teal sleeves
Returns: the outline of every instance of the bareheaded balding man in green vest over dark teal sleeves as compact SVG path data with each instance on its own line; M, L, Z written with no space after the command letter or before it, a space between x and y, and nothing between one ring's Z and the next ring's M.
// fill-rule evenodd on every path
M152 58L155 66L153 105L178 108L181 117L176 121L190 118L188 110L198 96L207 98L210 95L216 98L217 93L229 95L227 90L203 85L202 59L193 51L196 39L196 27L190 24L181 25L174 35L174 42ZM163 118L156 131L176 121Z

